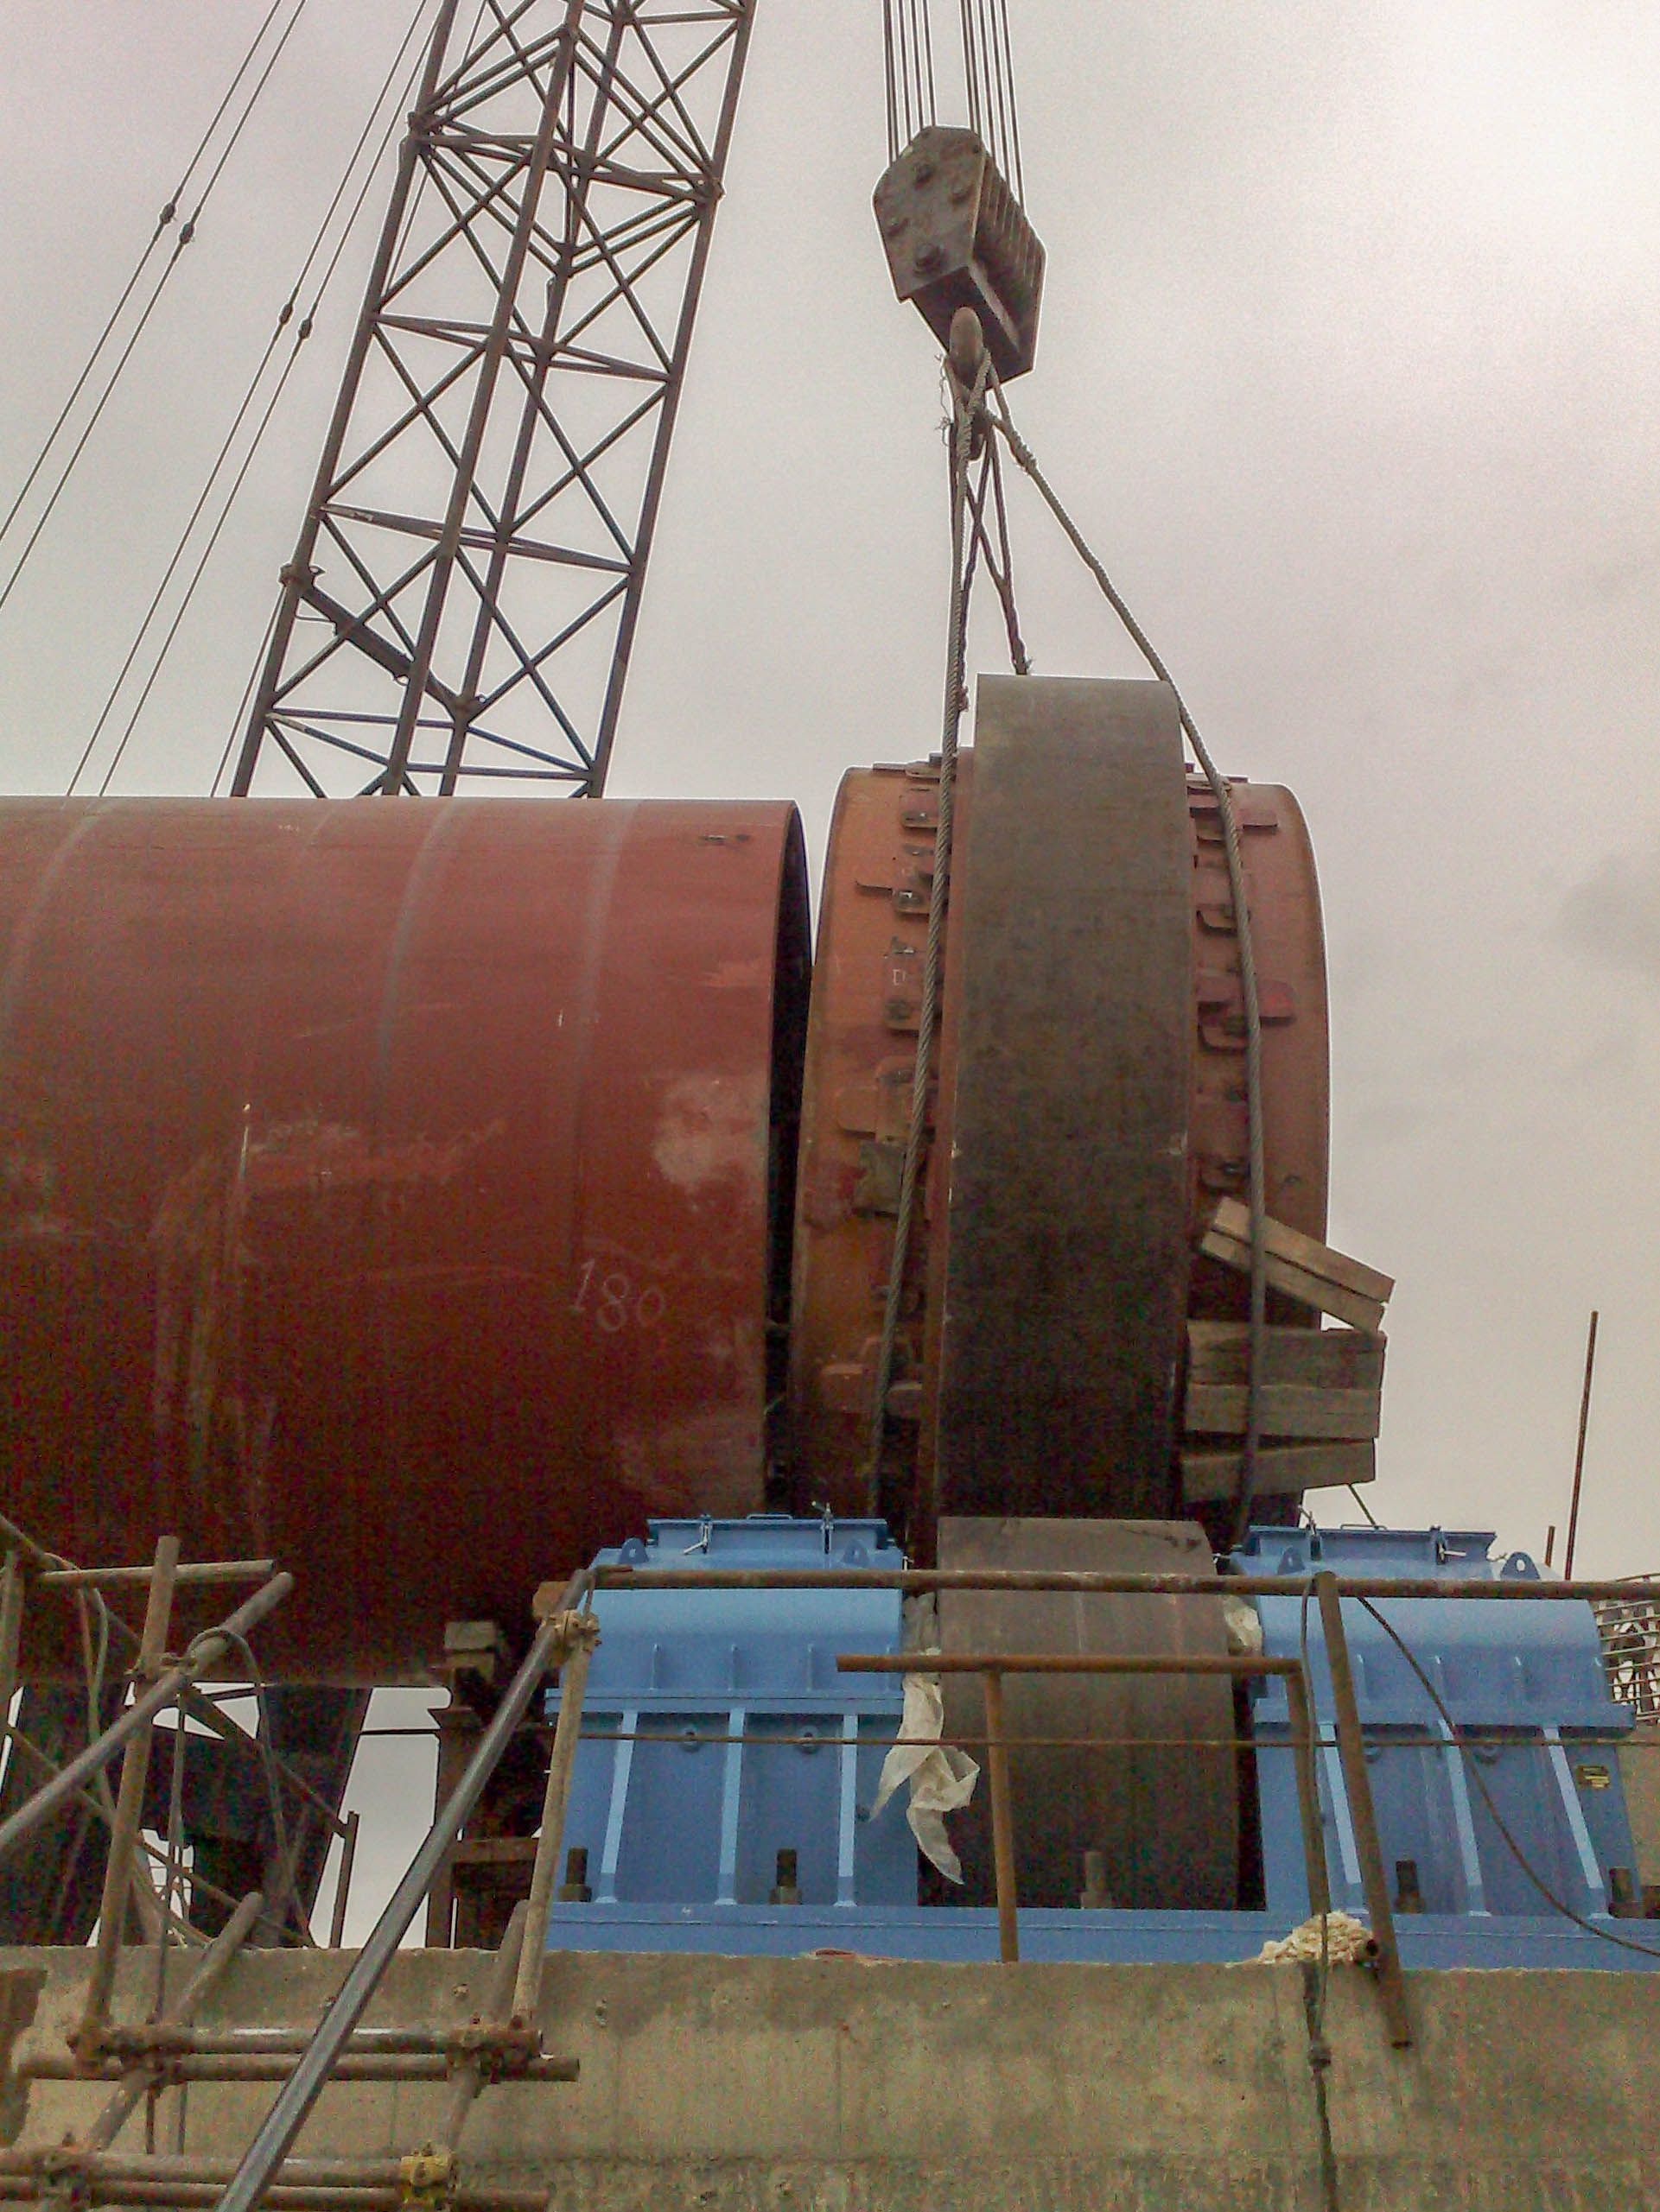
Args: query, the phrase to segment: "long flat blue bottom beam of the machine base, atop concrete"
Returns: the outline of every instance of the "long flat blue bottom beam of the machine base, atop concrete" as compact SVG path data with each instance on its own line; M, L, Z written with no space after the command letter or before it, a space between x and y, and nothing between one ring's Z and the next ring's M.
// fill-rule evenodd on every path
M1412 1966L1598 1966L1660 1964L1660 1920L1587 1916L1591 1933L1552 1913L1403 1913L1394 1922L1401 1964ZM1089 1966L1233 1964L1288 1933L1279 1913L1040 1911L1020 1913L1020 1958ZM1609 1942L1616 1936L1618 1942ZM998 1916L958 1907L834 1905L556 1905L551 1951L704 1951L719 1958L916 1958L992 1962ZM1645 1953L1620 1944L1642 1944Z

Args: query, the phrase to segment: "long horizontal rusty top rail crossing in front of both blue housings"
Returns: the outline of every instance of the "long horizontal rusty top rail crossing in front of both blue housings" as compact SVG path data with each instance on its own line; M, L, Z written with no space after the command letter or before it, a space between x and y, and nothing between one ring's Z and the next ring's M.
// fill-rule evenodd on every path
M1430 1575L1337 1575L1343 1597L1587 1597L1660 1599L1660 1575L1625 1582L1476 1582ZM1306 1597L1308 1575L1096 1575L1067 1568L992 1566L600 1566L600 1590L1067 1590L1080 1597Z

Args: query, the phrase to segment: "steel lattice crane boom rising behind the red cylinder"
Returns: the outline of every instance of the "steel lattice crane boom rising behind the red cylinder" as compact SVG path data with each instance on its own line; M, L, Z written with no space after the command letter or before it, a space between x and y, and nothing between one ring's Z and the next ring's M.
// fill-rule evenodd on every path
M604 790L755 0L458 4L237 796Z

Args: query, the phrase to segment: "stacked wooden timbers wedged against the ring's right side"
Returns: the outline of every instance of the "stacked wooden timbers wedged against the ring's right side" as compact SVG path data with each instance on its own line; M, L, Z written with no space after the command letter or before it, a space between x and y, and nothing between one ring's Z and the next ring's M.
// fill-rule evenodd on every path
M1200 1252L1251 1272L1251 1214L1224 1199ZM1310 1321L1268 1327L1262 1343L1255 1491L1259 1498L1372 1482L1383 1413L1383 1307L1388 1274L1335 1252L1317 1237L1266 1223L1266 1279ZM1324 1327L1332 1318L1339 1327ZM1186 1504L1237 1498L1244 1473L1251 1329L1239 1321L1191 1321L1182 1493Z

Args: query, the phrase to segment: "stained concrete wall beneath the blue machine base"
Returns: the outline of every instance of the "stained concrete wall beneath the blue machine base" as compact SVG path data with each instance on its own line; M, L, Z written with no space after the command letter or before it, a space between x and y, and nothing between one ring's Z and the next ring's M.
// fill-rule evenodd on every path
M84 1951L0 1951L0 2132L58 2143L102 2088L18 2079L62 2051ZM131 1955L117 2017L148 2011ZM175 1969L177 1971L177 1969ZM199 2026L310 2024L345 1960L252 1953ZM403 1953L372 2022L471 2015L485 1960ZM1363 1969L1332 1971L1337 2203L1660 2203L1660 1975L1421 1973L1417 2044L1390 2051ZM549 1960L549 2051L575 2086L487 2090L465 2179L560 2212L1328 2212L1295 1966L919 1966L859 1960ZM195 2084L186 2148L235 2154L272 2088ZM159 2099L173 2141L177 2090ZM443 2088L339 2086L301 2150L401 2154ZM124 2143L142 2148L142 2112Z

